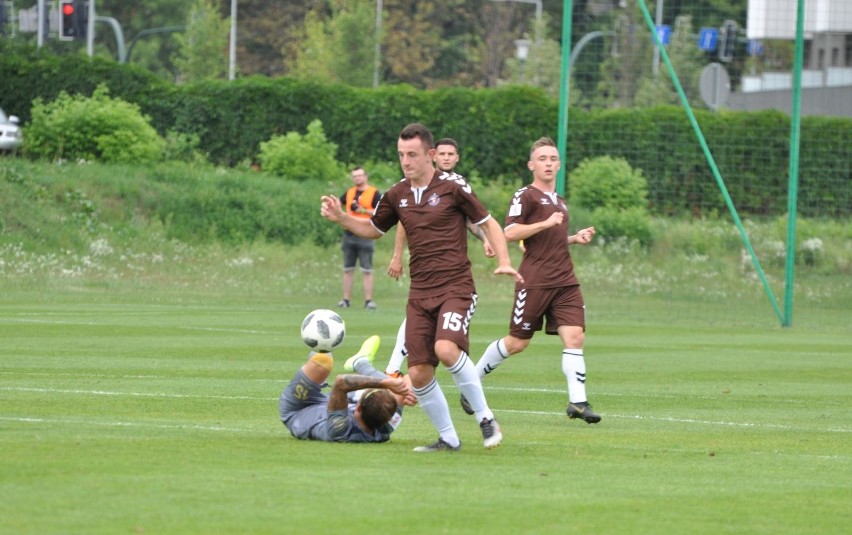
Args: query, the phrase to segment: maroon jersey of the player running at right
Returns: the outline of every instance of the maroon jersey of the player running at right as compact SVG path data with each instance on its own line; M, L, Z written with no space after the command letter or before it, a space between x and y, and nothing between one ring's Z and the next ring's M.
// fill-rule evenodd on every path
M515 192L506 214L506 226L530 225L545 221L559 211L565 214L562 224L542 230L524 239L526 252L518 273L524 288L557 288L579 284L574 275L574 262L568 252L568 207L556 193L545 193L534 186Z

